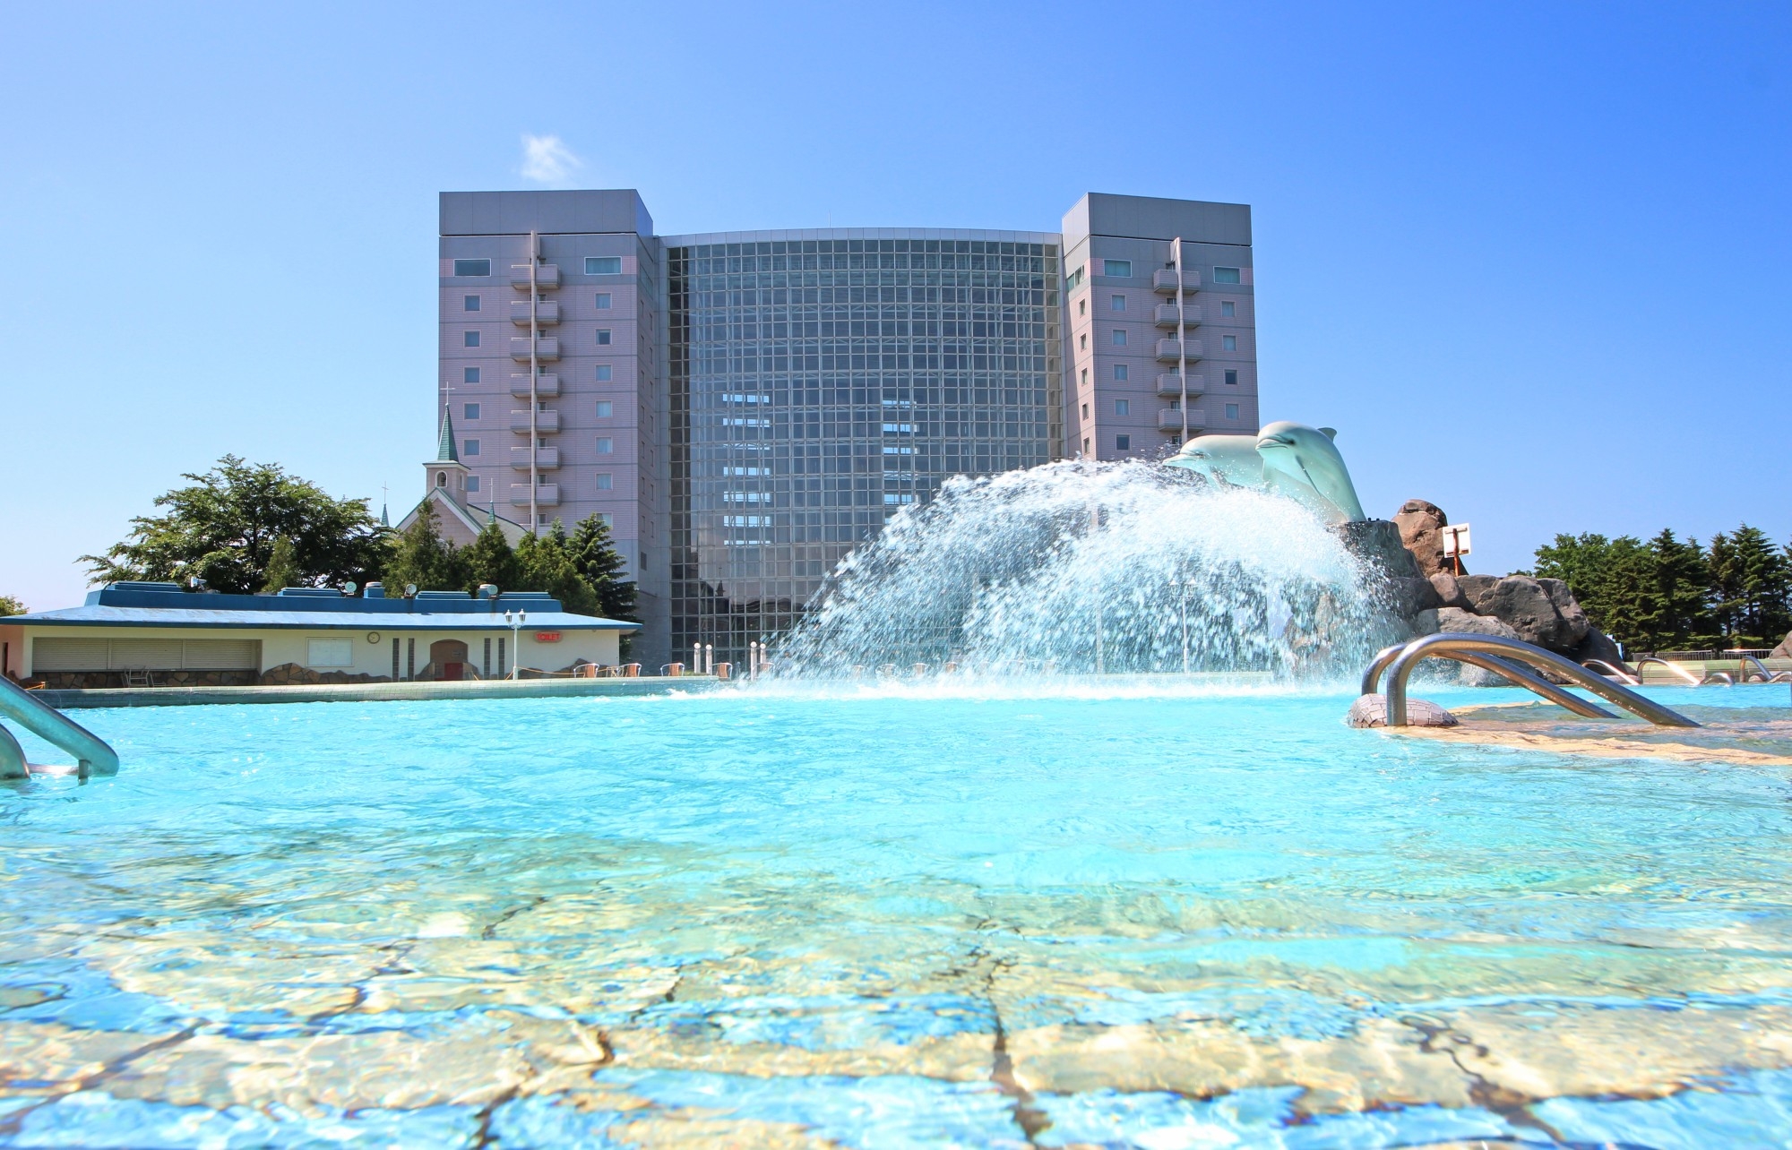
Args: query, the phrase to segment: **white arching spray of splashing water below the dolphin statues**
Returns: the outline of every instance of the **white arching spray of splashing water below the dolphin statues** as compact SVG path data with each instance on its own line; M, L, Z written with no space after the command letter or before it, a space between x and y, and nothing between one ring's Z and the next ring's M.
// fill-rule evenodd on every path
M1299 503L1142 462L952 478L851 554L780 674L1360 668L1380 577Z

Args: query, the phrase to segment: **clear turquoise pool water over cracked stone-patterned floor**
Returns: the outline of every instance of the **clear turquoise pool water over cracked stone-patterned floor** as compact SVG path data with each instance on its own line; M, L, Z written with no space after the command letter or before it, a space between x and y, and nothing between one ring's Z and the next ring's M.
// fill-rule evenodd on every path
M1792 767L1348 702L88 711L0 788L0 1143L1792 1139Z

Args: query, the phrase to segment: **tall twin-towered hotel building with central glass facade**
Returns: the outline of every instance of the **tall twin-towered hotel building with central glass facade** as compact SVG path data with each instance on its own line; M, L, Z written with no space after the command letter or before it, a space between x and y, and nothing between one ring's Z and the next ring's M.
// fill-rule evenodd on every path
M604 516L643 663L745 661L952 475L1258 426L1245 204L658 235L633 190L444 192L437 274L432 498Z

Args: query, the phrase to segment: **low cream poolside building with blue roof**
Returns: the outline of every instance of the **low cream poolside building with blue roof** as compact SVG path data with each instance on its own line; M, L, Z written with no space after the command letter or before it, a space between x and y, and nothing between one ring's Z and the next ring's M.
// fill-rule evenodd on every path
M385 598L378 584L348 596L115 582L81 607L0 618L0 674L48 688L502 679L513 666L615 666L620 636L636 629L566 613L541 591Z

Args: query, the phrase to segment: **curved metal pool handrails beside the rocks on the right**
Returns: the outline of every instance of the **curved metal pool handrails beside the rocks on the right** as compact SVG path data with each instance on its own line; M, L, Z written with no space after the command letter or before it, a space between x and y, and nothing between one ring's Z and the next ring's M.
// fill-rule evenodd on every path
M1374 656L1369 668L1362 672L1364 695L1374 695L1382 681L1382 672L1387 672L1385 713L1389 727L1407 725L1407 679L1425 659L1455 659L1457 663L1468 663L1469 666L1489 670L1516 686L1536 691L1550 702L1588 718L1616 718L1616 715L1595 702L1581 699L1579 695L1570 695L1532 668L1554 672L1555 675L1568 679L1577 686L1584 686L1607 702L1615 702L1625 711L1640 718L1647 718L1659 727L1699 725L1679 711L1672 711L1652 699L1645 699L1631 688L1613 682L1606 675L1591 672L1573 659L1564 659L1555 652L1532 647L1530 643L1523 643L1520 639L1446 631L1441 634L1428 634L1409 643L1385 647Z

